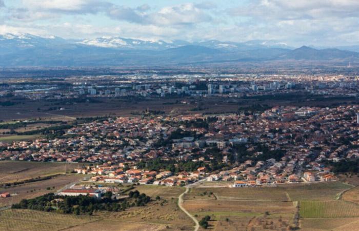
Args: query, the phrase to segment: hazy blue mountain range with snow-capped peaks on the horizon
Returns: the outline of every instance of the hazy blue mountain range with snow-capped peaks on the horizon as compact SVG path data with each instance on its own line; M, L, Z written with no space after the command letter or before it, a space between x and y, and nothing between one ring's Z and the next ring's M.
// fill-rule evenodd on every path
M119 36L66 40L32 34L0 35L0 66L152 66L222 62L359 61L359 46L294 48L277 41L244 43L146 41Z

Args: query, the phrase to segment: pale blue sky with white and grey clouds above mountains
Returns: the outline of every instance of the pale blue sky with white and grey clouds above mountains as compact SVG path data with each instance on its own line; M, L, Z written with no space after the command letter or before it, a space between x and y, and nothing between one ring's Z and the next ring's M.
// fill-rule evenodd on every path
M0 34L359 44L358 0L0 0Z

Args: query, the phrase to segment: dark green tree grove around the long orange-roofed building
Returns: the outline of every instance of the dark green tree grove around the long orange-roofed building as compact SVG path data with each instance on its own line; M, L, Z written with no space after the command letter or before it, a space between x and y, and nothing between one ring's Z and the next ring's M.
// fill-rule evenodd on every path
M23 199L20 203L12 205L12 208L33 209L40 211L56 210L62 214L88 214L94 211L121 211L133 206L145 206L151 201L146 194L140 194L137 190L130 191L129 197L124 199L114 199L112 192L106 192L101 199L89 196L58 196L46 194L34 199Z

